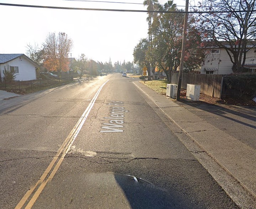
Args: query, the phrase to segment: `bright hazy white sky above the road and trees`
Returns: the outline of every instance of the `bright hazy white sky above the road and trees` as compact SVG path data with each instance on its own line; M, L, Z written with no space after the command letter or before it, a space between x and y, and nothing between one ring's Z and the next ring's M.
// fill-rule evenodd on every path
M143 3L143 0L95 0ZM0 0L1 3L146 10L139 4L70 0ZM164 4L167 0L159 0ZM185 0L174 0L179 6ZM178 7L179 9L184 7ZM41 45L49 33L65 32L73 40L72 57L108 62L133 61L134 47L147 37L146 12L59 10L0 5L0 54L26 54L27 44Z

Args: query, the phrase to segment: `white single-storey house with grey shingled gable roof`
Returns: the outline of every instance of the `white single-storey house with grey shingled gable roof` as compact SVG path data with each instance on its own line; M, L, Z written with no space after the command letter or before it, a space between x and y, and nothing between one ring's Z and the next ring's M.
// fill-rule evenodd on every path
M15 73L15 80L35 80L36 67L39 66L25 54L0 54L0 78L4 77L4 70L9 70Z

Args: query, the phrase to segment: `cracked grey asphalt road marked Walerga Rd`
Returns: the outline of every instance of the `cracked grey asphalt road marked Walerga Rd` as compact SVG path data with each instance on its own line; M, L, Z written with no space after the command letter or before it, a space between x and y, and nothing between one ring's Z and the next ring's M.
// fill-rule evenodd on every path
M46 176L52 182L109 171L141 177L158 188L177 192L200 208L238 208L168 128L168 121L163 121L164 117L148 105L132 83L134 80L115 73L40 92L40 96L33 94L34 98L14 106L12 99L5 101L10 107L0 111L0 208L14 208L47 173L47 167L63 146L62 152L66 154L57 159L59 164L55 162L54 166L58 166L55 170L51 167ZM79 133L68 137L85 113ZM106 124L118 117L121 122L115 129L119 131L108 132L113 130L106 128L110 126ZM63 142L69 138L75 139L66 149ZM75 182L76 178L73 179ZM75 197L77 185L66 184L63 191ZM86 185L83 189L87 191ZM50 208L47 205L52 200L51 192L49 181L39 197L33 197L32 208ZM54 200L56 208L63 201L61 194ZM127 201L136 208L132 199ZM73 200L68 204L67 208L78 207Z

